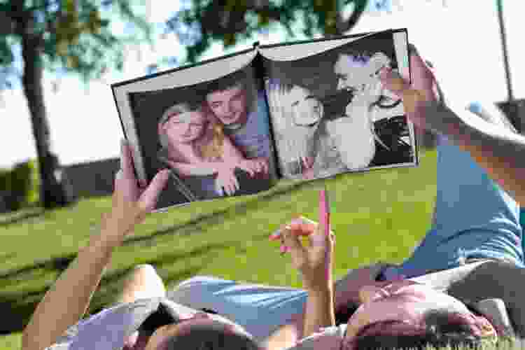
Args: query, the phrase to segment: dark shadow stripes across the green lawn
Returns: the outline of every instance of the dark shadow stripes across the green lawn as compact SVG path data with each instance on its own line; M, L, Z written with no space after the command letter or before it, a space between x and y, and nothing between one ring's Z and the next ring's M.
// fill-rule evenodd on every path
M293 182L287 186L283 186L282 188L270 190L269 193L255 195L253 198L250 198L245 202L233 204L232 206L223 210L213 211L210 214L199 216L186 223L173 225L170 228L153 232L151 235L145 237L132 237L124 241L123 246L141 246L144 244L151 245L154 244L153 241L156 237L163 235L190 235L192 232L198 231L196 228L198 228L200 225L210 226L222 223L225 217L245 214L248 210L256 209L261 202L268 202L269 200L274 200L276 197L288 195L294 190L299 190L304 186L310 186L310 184L310 182ZM41 214L43 213L36 212L28 214L27 216L22 216L13 219L11 224ZM265 232L259 237L252 237L252 239L267 239L267 233ZM146 263L161 267L162 265L169 265L184 258L206 256L209 255L209 252L212 250L232 248L232 246L237 246L239 247L239 250L241 250L242 248L240 244L241 242L235 241L223 242L221 244L209 244L207 246L200 246L199 248L195 248L193 251L186 253L160 255L158 258L155 258L155 260L151 260ZM64 272L64 270L75 258L76 253L71 253L64 256L50 258L48 260L38 261L32 265L8 270L0 274L0 288L16 286L18 283L20 283L20 281L33 278L33 276L38 273L55 274L55 276L58 276ZM210 259L213 258L213 256L210 257ZM164 279L166 286L170 286L173 283L176 283L176 281L181 281L194 276L200 269L202 269L207 261L208 260L202 260L202 264L200 266L188 267L182 271L179 270L179 272L176 274L162 274L162 278ZM124 278L125 274L127 274L130 269L132 269L132 266L127 269L122 269L111 274L107 274L102 278L102 281L99 285L99 290L97 290L97 293L95 293L93 297L90 313L96 313L102 309L104 305L113 302L113 297L116 294L116 290L118 289L119 281ZM31 314L34 312L36 305L41 300L48 288L49 286L44 286L43 288L37 290L25 290L22 293L0 292L0 314L2 315L0 318L0 335L23 330L29 321Z

